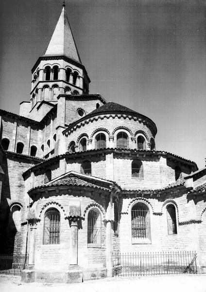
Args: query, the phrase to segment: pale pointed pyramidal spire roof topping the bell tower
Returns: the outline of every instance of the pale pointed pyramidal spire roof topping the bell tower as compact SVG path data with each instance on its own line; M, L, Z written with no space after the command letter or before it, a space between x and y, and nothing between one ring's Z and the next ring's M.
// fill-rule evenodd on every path
M46 53L44 54L44 56L48 55L65 55L81 63L81 59L69 25L65 4L63 4L59 20L53 31Z

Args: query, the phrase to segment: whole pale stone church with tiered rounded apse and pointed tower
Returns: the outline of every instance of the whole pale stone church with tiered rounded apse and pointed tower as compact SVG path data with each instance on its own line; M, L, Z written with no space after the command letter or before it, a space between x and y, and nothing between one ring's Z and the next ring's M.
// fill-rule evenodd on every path
M195 251L206 273L206 168L89 83L63 5L29 101L0 110L0 253L29 254L26 282L111 276L137 252Z

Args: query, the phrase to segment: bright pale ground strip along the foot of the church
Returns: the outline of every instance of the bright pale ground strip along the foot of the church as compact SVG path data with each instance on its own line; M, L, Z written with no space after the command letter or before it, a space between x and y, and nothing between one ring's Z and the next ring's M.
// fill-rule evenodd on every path
M20 277L0 275L0 292L206 292L206 275L105 278L81 284L21 284Z

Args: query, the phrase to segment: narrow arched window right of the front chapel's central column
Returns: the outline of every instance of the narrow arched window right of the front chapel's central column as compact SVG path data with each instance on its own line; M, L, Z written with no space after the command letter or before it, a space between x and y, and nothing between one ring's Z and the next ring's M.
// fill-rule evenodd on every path
M96 208L91 209L87 219L88 245L101 246L101 214Z

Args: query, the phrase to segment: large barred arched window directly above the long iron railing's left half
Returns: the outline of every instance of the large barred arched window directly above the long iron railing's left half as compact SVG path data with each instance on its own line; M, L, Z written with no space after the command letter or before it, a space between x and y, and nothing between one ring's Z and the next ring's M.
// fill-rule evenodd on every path
M146 239L150 234L150 211L146 204L138 202L131 210L132 238Z

